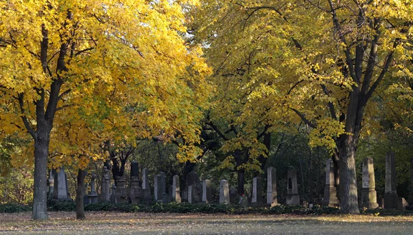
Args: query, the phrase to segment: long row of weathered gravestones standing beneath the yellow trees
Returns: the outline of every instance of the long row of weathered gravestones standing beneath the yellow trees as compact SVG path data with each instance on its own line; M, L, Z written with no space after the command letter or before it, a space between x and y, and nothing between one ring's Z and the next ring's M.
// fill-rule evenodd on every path
M151 203L153 200L151 191L149 190L149 171L145 168L142 171L142 187L138 180L139 177L138 163L131 163L131 182L129 195L125 187L125 178L117 178L115 185L112 185L112 193L110 192L110 174L107 166L103 167L101 193L98 195L95 187L96 174L92 174L90 182L89 194L85 195L85 204L98 202L111 203ZM266 203L262 196L262 178L253 178L253 192L251 205L253 206L273 206L277 205L277 183L276 172L274 167L267 169L267 195ZM299 205L300 198L297 185L297 171L288 170L287 173L287 205ZM49 198L56 200L70 200L70 194L67 190L67 176L64 168L59 171L51 170L50 177L47 180L49 185ZM161 172L154 177L154 198L157 202L180 203L181 191L179 176L173 176L173 183L169 187L169 194L166 192L165 174ZM211 181L208 179L200 181L195 172L189 173L187 176L187 186L182 192L182 198L189 203L211 203ZM220 203L230 203L229 183L226 180L220 181ZM248 205L248 198L243 196L240 204ZM326 163L326 187L324 189L324 198L321 205L339 206L337 198L337 189L335 188L334 165L332 160ZM361 197L359 202L360 207L374 209L379 207L377 203L377 192L375 190L374 181L374 166L371 158L363 160L363 182L361 188ZM396 167L394 161L394 153L389 152L385 159L385 194L381 206L385 209L403 209L407 203L404 198L399 198L396 193Z

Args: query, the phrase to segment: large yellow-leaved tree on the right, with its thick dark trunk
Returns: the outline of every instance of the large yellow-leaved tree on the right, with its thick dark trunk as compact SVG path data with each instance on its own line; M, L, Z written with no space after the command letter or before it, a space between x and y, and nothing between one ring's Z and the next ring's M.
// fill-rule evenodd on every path
M268 109L269 123L313 128L310 145L328 147L339 161L341 212L358 214L355 154L366 105L383 79L407 69L411 16L411 3L399 1L205 0L193 30L224 78L215 82L235 90L224 98ZM266 117L239 110L245 125L254 114Z

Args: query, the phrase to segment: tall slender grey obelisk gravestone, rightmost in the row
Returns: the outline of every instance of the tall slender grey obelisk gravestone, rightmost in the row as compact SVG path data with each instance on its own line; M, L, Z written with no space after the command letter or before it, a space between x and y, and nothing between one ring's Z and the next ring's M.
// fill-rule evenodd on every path
M396 192L396 164L394 152L388 152L385 156L385 192L384 208L397 209L399 196Z

